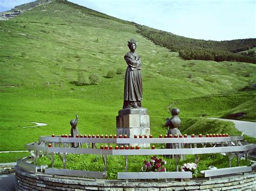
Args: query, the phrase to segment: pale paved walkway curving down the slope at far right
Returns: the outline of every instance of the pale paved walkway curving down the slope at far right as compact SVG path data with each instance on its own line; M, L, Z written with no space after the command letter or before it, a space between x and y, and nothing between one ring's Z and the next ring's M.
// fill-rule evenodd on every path
M241 132L244 132L245 135L256 138L256 122L246 122L246 121L238 121L233 119L221 119L209 117L208 119L219 119L223 121L233 122L235 128Z

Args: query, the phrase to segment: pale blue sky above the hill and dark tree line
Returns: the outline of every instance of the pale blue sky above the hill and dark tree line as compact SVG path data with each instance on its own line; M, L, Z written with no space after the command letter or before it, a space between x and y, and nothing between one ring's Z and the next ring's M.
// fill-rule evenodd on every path
M256 38L256 0L69 0L107 15L205 40ZM32 0L0 0L0 12Z

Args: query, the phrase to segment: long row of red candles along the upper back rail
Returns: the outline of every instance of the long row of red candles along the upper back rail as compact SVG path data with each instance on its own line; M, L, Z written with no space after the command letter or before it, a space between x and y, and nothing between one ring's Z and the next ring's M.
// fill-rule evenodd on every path
M53 134L52 137L55 137L55 135ZM62 135L61 137L72 137L72 135L70 134L69 136L66 134L66 135ZM133 138L147 138L147 135L134 135ZM159 135L159 138L172 138L173 136L172 135ZM187 138L187 134L185 135L174 135L174 138ZM191 135L192 138L194 138L194 134ZM203 137L202 134L199 134L198 137ZM228 134L206 134L205 137L228 137ZM76 138L117 138L117 135L76 135ZM127 135L119 135L118 138L128 138ZM149 138L153 138L152 135L149 136Z

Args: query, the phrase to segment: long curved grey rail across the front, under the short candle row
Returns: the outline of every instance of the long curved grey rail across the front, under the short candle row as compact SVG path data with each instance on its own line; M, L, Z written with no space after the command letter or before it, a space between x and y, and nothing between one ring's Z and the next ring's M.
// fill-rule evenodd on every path
M140 150L103 150L96 148L67 148L67 147L47 147L37 145L26 145L30 150L77 153L77 154L107 154L107 155L163 155L163 154L207 154L248 151L256 147L256 144L244 146L225 147L205 147L205 148L164 148L164 149L140 149Z

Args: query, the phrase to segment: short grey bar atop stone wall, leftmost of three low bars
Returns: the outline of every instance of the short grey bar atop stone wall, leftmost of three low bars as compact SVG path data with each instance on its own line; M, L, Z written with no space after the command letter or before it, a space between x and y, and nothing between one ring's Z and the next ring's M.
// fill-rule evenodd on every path
M106 178L105 172L79 171L79 170L58 169L58 168L45 168L45 174L77 176L77 177L97 178L97 179Z

